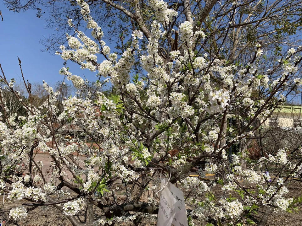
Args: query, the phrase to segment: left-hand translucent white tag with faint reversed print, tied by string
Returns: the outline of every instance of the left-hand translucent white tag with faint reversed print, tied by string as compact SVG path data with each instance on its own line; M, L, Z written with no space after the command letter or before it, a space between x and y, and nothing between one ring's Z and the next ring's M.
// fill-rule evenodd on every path
M161 187L167 183L167 179L161 181ZM161 191L157 226L170 226L174 220L174 216L177 208L177 200L173 197L169 191L168 186Z

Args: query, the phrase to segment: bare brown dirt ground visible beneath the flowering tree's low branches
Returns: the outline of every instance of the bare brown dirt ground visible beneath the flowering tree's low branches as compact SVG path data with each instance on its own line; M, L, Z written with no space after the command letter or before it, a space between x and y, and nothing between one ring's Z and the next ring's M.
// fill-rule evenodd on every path
M51 160L48 158L47 154L41 154L38 153L36 154L35 160L41 160L43 161L43 170L47 170L50 168L51 165ZM249 185L246 185L249 186ZM302 182L292 180L291 183L287 186L289 190L288 197L297 197L302 195ZM219 196L219 192L221 189L219 187L216 187L216 189L213 191L213 193L217 194ZM122 192L122 191L119 191ZM121 195L122 196L122 195ZM237 196L236 193L234 193L233 196ZM3 196L0 196L0 200L3 200ZM4 203L4 208L3 208L3 220L8 220L8 213L11 208L21 206L22 203L27 203L27 201L20 200L18 202L11 203L8 201L7 196L5 196L5 203ZM30 208L30 207L27 207ZM85 211L87 209L84 209L80 214L76 215L76 218L81 223L84 222L89 222L88 219L85 219ZM253 217L256 220L260 220L262 213L264 213L265 209L260 208L260 213L259 215L254 215ZM96 211L96 213L98 213ZM98 219L102 217L102 213L100 213L98 216L95 216L95 219ZM267 222L266 226L297 226L297 225L302 225L302 212L299 213L272 213ZM53 206L48 206L48 207L37 207L31 211L29 211L28 216L17 223L14 223L10 220L5 225L27 225L27 226L63 226L63 225L72 225L69 220L55 207ZM116 223L115 225L121 225L121 226L130 226L130 225L135 225L132 222L129 223ZM150 219L143 219L141 223L138 225L143 226L155 226L156 225L156 219L155 220L150 220ZM196 224L195 224L196 225ZM198 225L199 226L199 225ZM204 225L202 225L204 226Z

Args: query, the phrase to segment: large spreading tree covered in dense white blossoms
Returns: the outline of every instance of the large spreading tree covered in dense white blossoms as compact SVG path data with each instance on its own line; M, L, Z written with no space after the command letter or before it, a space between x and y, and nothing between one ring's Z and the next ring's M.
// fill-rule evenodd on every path
M30 198L42 203L50 196L56 201L70 200L61 204L68 216L80 213L87 202L110 207L116 200L140 204L145 198L155 205L156 177L160 170L169 168L176 185L189 191L186 204L192 204L192 216L200 222L210 216L226 218L232 224L243 219L244 208L252 205L274 205L276 211L290 206L293 200L284 198L287 180L261 172L263 164L273 163L291 170L289 176L296 175L299 169L288 150L284 147L246 166L243 146L255 139L257 129L286 100L286 90L302 84L301 79L294 78L299 59L290 58L298 50L289 49L287 58L274 66L281 71L278 76L274 67L264 70L260 64L266 54L260 44L251 53L254 60L246 65L230 63L197 49L205 33L182 19L177 20L179 26L170 27L178 12L163 0L150 0L148 6L155 19L147 31L142 26L134 28L125 51L118 55L102 40L103 30L93 20L87 2L77 3L92 38L77 30L70 19L76 35L67 35L68 46L60 46L57 54L95 72L96 84L102 81L112 87L111 95L93 90L87 80L63 67L59 73L73 83L76 95L64 98L61 109L57 104L59 91L44 82L48 97L41 106L25 103L26 115L19 118L1 113L1 192L9 188L12 201ZM136 10L139 15L139 5ZM176 42L176 35L178 42L171 43L172 37ZM99 55L105 60L99 62ZM14 81L7 86L13 89ZM264 91L260 94L259 90ZM3 110L8 112L4 104ZM229 159L231 145L243 151L232 153ZM47 153L51 159L47 176L42 172L43 164L32 161L33 150ZM197 169L201 178L211 173L215 179L203 181L187 175L200 161L205 162L203 169ZM31 170L22 169L23 163L26 167L31 163ZM3 178L10 178L12 183L6 184ZM60 185L69 186L82 197L70 198L71 192L62 190L58 179ZM255 191L242 189L242 180ZM222 197L212 193L215 186ZM121 187L125 197L117 197L115 191ZM226 198L234 192L242 200ZM94 224L110 225L138 216L107 214L112 218L101 218ZM26 215L23 207L9 213L14 220Z

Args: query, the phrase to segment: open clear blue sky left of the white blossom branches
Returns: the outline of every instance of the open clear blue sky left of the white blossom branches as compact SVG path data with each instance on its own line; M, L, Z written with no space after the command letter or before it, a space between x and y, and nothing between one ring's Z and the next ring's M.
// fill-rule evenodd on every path
M0 0L0 10L3 14L3 21L0 19L0 63L7 78L15 78L20 81L21 73L17 56L22 61L22 69L25 79L31 83L42 83L45 80L48 84L54 85L61 81L63 76L59 69L63 67L63 59L58 55L49 52L42 52L44 46L39 44L43 36L53 33L53 30L45 28L44 17L37 18L36 11L14 13L9 11ZM109 43L108 43L109 44ZM112 46L109 45L111 49ZM98 56L98 60L102 60ZM73 62L67 62L73 74L85 77L88 80L96 80L96 72L82 70Z

